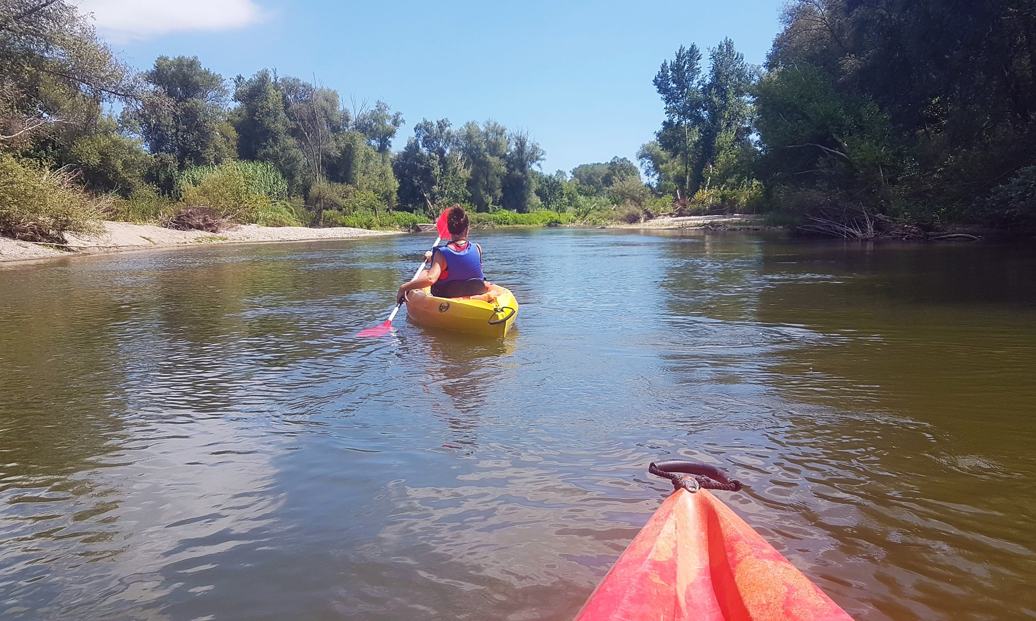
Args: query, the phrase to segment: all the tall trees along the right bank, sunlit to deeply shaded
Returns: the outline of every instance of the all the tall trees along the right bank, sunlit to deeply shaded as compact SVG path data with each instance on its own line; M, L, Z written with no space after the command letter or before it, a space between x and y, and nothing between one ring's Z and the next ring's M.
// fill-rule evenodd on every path
M782 26L761 67L729 39L662 65L656 190L840 235L1036 229L1031 2L793 0Z

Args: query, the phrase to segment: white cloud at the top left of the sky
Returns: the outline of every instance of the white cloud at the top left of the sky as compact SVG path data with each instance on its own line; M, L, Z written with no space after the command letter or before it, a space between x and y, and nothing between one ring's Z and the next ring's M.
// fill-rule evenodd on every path
M97 31L114 42L190 30L233 30L264 17L252 0L81 0L79 8L92 12Z

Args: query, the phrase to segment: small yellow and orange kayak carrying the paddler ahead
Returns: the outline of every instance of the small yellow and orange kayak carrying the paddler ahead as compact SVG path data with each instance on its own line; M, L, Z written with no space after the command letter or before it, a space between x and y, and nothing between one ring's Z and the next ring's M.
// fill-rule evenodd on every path
M493 298L484 302L468 298L440 298L431 288L406 294L406 314L416 323L455 332L506 336L518 316L518 302L510 290L491 285Z

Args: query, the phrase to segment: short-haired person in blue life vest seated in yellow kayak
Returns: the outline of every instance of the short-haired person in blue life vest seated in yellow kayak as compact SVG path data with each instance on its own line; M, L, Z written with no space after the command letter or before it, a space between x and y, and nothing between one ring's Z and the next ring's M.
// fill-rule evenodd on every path
M468 241L470 224L460 205L454 205L447 212L447 229L450 241L432 249L432 266L428 271L400 286L396 295L398 303L403 303L407 291L425 287L431 287L431 294L436 297L465 297L483 301L492 297L488 293L491 285L487 287L489 284L482 272L482 246Z

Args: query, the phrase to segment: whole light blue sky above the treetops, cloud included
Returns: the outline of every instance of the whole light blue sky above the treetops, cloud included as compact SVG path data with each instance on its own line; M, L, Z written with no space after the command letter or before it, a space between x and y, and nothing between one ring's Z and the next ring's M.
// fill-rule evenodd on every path
M527 130L543 169L634 159L662 120L652 78L681 45L724 36L760 63L781 0L449 2L80 0L120 56L198 56L233 78L263 67L313 78L422 118L493 119Z

